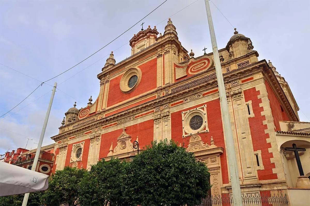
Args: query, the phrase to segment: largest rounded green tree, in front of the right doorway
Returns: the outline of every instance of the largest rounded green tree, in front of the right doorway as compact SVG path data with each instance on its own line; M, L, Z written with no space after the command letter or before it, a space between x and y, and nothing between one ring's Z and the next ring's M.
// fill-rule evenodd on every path
M210 189L210 173L174 141L152 142L128 165L123 195L131 205L197 205Z

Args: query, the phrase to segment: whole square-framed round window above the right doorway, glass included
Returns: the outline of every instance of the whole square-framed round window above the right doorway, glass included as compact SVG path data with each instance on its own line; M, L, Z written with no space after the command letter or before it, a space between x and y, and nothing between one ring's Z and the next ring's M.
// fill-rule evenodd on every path
M206 105L182 112L183 138L209 132Z

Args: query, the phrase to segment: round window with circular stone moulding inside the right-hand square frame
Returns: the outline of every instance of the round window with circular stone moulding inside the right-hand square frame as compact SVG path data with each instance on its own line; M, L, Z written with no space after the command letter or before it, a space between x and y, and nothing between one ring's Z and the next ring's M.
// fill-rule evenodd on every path
M184 117L184 131L188 134L197 134L205 128L205 121L204 111L192 110Z

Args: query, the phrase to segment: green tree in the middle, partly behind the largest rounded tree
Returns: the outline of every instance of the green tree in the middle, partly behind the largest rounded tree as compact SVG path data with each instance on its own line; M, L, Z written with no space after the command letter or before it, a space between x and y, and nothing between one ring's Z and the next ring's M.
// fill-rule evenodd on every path
M79 184L79 204L82 205L128 205L122 195L122 174L128 162L111 158L91 166Z

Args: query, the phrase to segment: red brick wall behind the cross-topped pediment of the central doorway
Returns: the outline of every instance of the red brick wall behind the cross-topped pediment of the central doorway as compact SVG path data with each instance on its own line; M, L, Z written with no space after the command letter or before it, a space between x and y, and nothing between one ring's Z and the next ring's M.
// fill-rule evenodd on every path
M153 141L153 126L154 121L148 120L139 124L134 124L126 127L125 132L131 136L131 142L137 139L139 136L139 147L142 149L145 145L150 145ZM99 160L107 157L111 143L113 142L113 149L117 146L117 137L123 132L123 129L117 129L112 132L108 132L102 135L100 143Z

